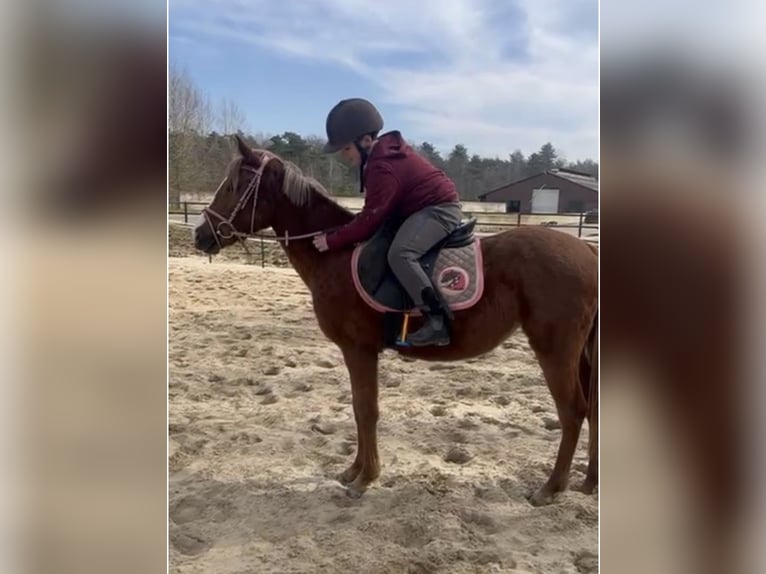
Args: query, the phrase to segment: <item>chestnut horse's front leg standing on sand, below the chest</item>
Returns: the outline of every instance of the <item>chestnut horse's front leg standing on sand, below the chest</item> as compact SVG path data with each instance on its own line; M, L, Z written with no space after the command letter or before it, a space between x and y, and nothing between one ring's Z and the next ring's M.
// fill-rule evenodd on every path
M341 475L348 494L359 497L380 475L378 460L378 353L358 347L341 348L351 379L356 420L356 459Z

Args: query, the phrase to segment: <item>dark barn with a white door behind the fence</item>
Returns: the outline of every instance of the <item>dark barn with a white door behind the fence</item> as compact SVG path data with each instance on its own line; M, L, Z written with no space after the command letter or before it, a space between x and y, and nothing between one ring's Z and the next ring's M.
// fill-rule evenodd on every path
M508 213L582 213L598 208L598 180L569 169L550 169L497 187L479 201L505 203Z

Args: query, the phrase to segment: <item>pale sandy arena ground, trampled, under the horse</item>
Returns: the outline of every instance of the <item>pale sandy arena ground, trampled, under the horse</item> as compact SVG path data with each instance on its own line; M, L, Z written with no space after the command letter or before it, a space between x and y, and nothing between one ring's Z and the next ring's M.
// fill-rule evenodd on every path
M523 334L462 363L386 351L381 477L352 500L334 478L356 448L348 375L308 289L172 234L170 251L171 572L597 571L597 496L526 500L560 431ZM587 424L572 486L586 443Z

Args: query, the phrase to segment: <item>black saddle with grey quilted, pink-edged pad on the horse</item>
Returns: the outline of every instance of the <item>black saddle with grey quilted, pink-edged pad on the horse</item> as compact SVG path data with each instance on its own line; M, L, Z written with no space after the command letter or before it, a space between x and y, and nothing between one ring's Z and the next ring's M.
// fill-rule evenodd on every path
M462 222L420 259L444 307L451 311L472 307L484 292L481 241L474 235L474 227L475 218ZM396 231L395 225L385 225L359 244L351 258L351 273L359 296L376 311L417 316L420 310L388 265Z

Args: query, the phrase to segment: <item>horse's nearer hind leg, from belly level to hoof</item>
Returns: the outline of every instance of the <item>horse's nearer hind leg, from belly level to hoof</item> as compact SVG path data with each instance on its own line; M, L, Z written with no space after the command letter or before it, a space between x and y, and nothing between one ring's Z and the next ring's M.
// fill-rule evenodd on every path
M531 339L530 344L534 348ZM562 353L563 350L559 347L557 353L537 354L561 422L561 442L553 472L548 481L530 498L530 502L535 506L550 504L555 496L567 487L569 468L587 411L577 372L579 353L574 349L572 352Z

